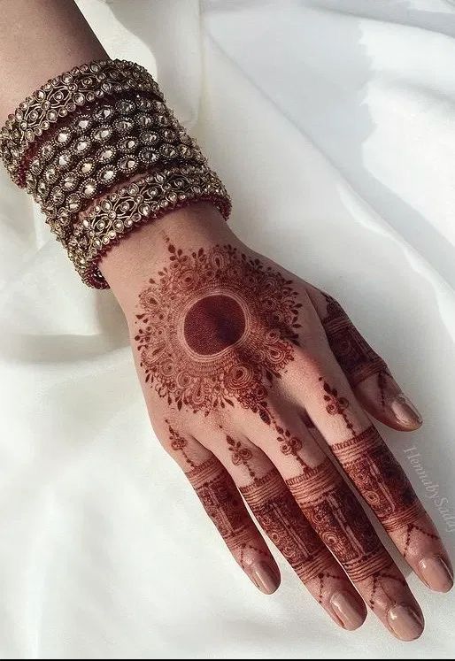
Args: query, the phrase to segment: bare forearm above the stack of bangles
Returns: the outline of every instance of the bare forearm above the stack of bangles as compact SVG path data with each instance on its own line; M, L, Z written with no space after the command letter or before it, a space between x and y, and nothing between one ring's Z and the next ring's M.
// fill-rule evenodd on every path
M0 121L53 76L105 58L73 0L0 0Z

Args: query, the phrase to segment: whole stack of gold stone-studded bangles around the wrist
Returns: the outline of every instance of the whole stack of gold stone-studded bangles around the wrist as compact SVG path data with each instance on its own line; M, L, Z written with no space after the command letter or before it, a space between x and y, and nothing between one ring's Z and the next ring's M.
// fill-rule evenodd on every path
M228 218L228 193L142 66L102 60L47 82L0 131L12 180L41 205L81 278L122 236L198 200Z

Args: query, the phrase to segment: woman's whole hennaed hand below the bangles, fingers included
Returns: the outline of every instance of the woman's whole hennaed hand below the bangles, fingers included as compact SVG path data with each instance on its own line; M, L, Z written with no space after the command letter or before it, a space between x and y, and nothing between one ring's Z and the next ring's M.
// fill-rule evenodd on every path
M341 306L205 204L143 227L101 268L158 439L255 585L272 593L280 573L243 499L338 625L360 626L366 603L418 637L420 607L349 482L420 579L450 589L436 528L368 414L403 431L421 420Z

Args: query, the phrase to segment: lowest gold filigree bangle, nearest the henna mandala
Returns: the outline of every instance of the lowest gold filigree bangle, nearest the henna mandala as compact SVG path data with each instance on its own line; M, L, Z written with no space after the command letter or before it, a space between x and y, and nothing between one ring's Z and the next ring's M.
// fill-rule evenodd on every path
M228 219L231 203L218 175L206 165L151 173L104 197L73 227L68 255L89 287L108 288L101 257L136 227L188 204L207 201Z

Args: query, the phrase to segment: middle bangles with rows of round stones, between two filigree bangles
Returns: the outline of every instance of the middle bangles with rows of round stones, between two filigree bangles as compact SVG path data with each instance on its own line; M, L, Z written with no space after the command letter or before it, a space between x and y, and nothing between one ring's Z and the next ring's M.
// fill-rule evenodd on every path
M82 115L72 126L60 128L53 142L42 145L46 156L50 145L57 150L48 165L37 158L30 162L27 188L33 187L35 200L64 245L77 215L118 181L151 167L205 163L196 142L164 104L141 97L130 102L129 114L119 114L126 111L123 101L104 104L94 119ZM32 173L38 169L39 175Z

